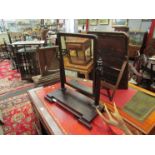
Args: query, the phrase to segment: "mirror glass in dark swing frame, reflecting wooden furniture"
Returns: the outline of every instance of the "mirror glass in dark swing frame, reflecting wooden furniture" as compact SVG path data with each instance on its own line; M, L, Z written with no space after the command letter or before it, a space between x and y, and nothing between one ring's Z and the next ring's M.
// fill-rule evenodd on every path
M93 79L94 39L88 36L62 35L60 38L63 52L66 83L72 87L92 94L92 87L83 85L86 79ZM83 72L87 72L84 74ZM79 79L80 78L80 79ZM79 82L80 81L80 82Z

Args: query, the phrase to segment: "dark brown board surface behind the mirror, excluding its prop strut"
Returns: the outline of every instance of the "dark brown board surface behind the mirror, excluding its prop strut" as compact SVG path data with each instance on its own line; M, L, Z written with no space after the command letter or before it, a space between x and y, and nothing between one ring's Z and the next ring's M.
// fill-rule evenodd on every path
M120 69L123 62L128 60L128 36L123 32L91 31L88 33L98 36L97 56L101 57L104 63L104 73L101 78L109 83L115 84L117 81L118 72L114 69L113 71L110 70L109 67ZM119 83L119 88L128 88L128 64L123 72L123 76Z

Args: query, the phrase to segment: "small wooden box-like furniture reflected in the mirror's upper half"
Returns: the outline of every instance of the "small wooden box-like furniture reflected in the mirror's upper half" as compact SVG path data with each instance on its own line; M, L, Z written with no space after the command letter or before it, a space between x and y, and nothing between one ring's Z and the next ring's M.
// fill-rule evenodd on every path
M71 64L86 65L91 61L92 48L90 39L66 37L63 41L64 48L66 48L64 50L68 52L67 56Z

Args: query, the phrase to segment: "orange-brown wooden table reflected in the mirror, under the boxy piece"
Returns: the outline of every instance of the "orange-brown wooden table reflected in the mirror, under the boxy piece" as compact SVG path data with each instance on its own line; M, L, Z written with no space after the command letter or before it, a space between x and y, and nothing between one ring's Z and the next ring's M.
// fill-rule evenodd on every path
M87 65L74 65L69 63L68 58L64 58L64 67L67 70L75 71L84 74L85 79L89 79L89 73L93 69L93 61L90 61Z

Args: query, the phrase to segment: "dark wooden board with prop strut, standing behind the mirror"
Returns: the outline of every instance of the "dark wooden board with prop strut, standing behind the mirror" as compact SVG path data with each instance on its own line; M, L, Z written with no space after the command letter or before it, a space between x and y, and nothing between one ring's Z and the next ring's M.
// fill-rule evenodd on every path
M107 89L107 96L112 100L117 88L128 88L128 37L123 32L88 33L98 36L94 68L98 63L100 71L96 72L99 75L95 75L102 80L101 85ZM98 78L95 79L98 83Z

